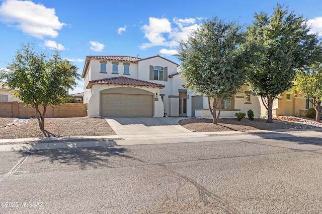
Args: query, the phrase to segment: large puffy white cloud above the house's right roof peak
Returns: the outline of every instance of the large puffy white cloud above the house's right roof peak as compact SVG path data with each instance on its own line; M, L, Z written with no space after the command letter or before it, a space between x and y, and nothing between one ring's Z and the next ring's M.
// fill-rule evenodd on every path
M191 31L198 28L196 19L193 18L174 18L173 24L176 27L172 27L172 23L166 18L158 19L150 17L149 25L144 25L142 27L145 35L144 37L149 40L149 43L143 43L140 48L143 50L155 46L175 48L179 45L181 40L186 41L188 39L188 35ZM165 50L167 49L164 49L163 51Z

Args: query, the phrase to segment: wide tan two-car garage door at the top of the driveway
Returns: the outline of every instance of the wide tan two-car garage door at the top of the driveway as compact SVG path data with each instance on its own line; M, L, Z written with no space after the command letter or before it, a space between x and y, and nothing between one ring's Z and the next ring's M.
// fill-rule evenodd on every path
M102 117L152 117L153 95L101 94Z

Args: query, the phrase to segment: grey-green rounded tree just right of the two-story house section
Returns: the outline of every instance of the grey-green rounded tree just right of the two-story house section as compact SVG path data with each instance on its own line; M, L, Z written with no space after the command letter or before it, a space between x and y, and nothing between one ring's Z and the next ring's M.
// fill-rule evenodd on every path
M244 60L239 50L244 42L239 25L212 18L204 20L187 42L181 41L179 45L176 56L181 61L186 86L208 96L214 124L220 115L221 100L229 99L244 84Z

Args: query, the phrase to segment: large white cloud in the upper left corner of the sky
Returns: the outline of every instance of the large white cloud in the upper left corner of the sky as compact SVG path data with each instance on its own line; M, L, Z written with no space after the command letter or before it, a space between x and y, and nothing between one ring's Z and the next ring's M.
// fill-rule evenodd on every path
M65 25L58 21L55 9L17 0L7 0L0 6L0 21L39 39L57 37L57 30Z

